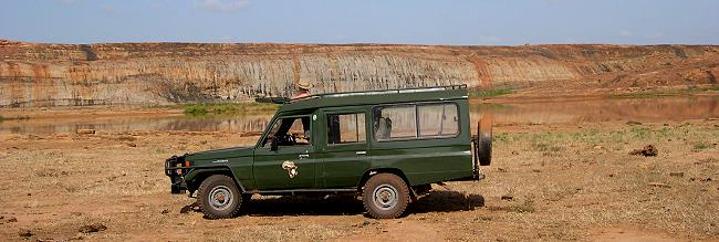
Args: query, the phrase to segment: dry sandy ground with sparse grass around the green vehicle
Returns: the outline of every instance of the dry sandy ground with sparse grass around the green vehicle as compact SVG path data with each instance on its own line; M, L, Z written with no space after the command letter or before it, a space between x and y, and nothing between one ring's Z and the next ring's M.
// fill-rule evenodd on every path
M256 196L238 218L206 220L169 193L165 158L254 139L0 135L0 241L719 241L717 119L503 124L486 180L434 186L395 220L367 218L352 196ZM646 145L658 156L628 155ZM106 230L79 232L95 223Z

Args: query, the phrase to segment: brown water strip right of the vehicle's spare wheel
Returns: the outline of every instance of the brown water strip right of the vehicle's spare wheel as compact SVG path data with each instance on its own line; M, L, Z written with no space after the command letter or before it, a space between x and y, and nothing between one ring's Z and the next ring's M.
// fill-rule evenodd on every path
M719 117L719 96L604 98L566 102L470 105L472 118L492 112L496 124L581 124L597 122L681 122Z

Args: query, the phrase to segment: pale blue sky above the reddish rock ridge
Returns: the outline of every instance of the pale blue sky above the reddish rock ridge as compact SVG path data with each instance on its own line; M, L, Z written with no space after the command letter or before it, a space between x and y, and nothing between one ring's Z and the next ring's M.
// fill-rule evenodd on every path
M2 0L42 43L719 44L715 0Z

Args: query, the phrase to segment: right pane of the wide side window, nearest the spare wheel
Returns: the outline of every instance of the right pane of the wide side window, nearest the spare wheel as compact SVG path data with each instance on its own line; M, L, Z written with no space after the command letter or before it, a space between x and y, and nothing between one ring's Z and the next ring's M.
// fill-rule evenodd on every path
M417 106L419 137L454 136L459 133L459 116L455 104Z

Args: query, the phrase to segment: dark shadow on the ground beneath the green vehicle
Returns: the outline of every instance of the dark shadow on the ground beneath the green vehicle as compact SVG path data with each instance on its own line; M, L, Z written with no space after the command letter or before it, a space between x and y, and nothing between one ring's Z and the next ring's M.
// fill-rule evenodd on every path
M261 199L252 199L246 206L240 215L355 215L365 213L362 200L354 194L262 197ZM409 204L405 215L428 212L471 211L483 206L484 197L480 194L433 190ZM199 212L195 203L186 206L184 210L187 211L190 207L194 207L191 211Z

